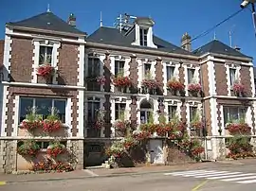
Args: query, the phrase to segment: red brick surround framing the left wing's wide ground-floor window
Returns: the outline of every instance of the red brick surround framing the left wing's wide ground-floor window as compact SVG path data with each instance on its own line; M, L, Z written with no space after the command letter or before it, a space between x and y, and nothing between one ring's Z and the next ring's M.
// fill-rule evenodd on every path
M71 97L71 101L72 101L72 121L71 121L71 126L72 126L72 135L73 136L76 136L77 132L78 132L78 128L77 128L77 125L78 122L77 122L77 117L78 117L78 114L77 113L77 103L78 103L78 100L77 100L77 94L78 92L77 91L64 91L64 89L58 89L58 90L55 90L55 89L46 89L46 88L25 88L25 87L9 87L8 88L9 90L9 95L7 98L9 98L9 103L7 103L7 107L8 107L8 119L6 120L6 124L7 124L7 129L6 129L6 132L7 132L7 135L8 136L11 136L11 132L13 131L13 120L12 120L12 116L14 115L13 113L13 107L14 107L14 104L13 104L13 99L15 96L30 96L30 97L33 97L33 96L39 96L39 97L51 97L51 98L68 98L68 97Z

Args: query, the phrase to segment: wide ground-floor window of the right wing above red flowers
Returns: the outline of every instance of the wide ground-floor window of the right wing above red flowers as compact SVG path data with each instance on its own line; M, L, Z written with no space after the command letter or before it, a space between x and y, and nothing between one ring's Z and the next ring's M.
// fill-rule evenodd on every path
M224 124L238 122L246 117L246 108L224 107Z

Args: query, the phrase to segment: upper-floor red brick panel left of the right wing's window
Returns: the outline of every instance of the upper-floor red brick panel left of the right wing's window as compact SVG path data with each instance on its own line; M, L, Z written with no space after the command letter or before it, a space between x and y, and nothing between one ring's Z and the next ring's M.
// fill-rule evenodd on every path
M224 63L214 62L216 92L218 96L228 96L228 80Z

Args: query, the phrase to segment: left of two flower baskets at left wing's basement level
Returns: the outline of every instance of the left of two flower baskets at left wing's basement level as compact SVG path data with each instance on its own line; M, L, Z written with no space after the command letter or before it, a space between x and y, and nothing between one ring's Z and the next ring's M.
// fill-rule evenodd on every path
M24 141L24 143L17 148L18 154L22 156L35 157L40 150L40 147L33 140Z

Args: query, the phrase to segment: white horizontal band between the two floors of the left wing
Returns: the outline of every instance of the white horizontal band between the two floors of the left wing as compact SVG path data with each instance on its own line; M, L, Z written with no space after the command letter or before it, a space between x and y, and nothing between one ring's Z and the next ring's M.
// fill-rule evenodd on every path
M27 83L27 82L8 82L2 81L4 86L28 86L28 87L45 87L45 88L60 88L60 89L76 89L85 90L82 86L71 86L71 85L55 85L55 84L45 84L45 83Z

